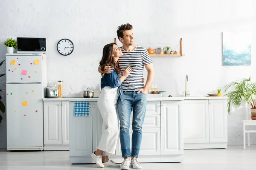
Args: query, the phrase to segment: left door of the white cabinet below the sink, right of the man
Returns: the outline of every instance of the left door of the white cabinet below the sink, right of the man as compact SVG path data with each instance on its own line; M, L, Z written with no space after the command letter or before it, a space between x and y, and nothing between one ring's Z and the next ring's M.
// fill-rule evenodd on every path
M185 100L182 109L184 143L209 143L208 100Z

